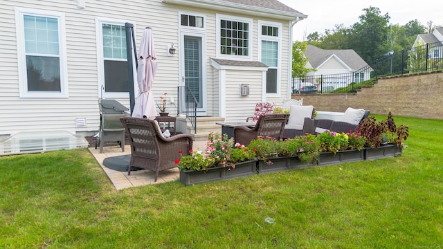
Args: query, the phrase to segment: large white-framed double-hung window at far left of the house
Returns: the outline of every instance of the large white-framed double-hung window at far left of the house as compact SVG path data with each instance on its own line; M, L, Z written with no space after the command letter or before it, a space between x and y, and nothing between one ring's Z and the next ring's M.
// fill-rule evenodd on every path
M21 98L67 98L64 14L15 8Z

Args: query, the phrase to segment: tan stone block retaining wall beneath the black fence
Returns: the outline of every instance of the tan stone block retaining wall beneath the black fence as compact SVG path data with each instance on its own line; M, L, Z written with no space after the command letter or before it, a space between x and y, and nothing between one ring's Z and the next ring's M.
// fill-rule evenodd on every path
M443 72L379 78L358 93L293 94L317 111L345 111L347 107L394 116L443 119Z

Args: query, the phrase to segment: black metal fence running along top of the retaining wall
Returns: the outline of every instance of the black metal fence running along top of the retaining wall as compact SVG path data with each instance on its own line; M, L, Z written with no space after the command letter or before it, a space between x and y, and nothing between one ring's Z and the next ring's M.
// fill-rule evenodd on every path
M354 93L378 77L443 70L443 44L424 44L408 50L391 50L353 73L311 75L292 79L292 93ZM315 89L315 90L311 90Z

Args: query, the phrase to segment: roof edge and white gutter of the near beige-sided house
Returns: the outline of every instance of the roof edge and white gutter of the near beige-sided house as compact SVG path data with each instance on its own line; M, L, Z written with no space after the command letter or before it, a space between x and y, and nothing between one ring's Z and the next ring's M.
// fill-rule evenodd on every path
M162 0L162 2L279 19L307 18L307 15L277 0Z

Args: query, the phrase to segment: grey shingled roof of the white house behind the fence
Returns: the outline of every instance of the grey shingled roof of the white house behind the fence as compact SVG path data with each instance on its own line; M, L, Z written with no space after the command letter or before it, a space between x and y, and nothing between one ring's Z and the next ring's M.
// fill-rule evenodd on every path
M360 55L355 53L355 51L352 49L327 50L308 44L305 56L308 58L309 64L311 64L312 68L318 68L332 57L338 58L345 64L344 66L347 66L352 71L356 71L368 66L368 63L361 59Z

